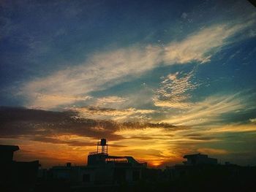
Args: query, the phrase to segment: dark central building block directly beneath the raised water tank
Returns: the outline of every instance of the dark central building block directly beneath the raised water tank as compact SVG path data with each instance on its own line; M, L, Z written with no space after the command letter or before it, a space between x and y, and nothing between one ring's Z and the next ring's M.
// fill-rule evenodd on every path
M142 176L142 169L146 163L140 163L132 156L114 156L108 154L108 142L100 139L97 142L97 152L88 155L88 176L94 180L105 182L132 182L139 180Z

